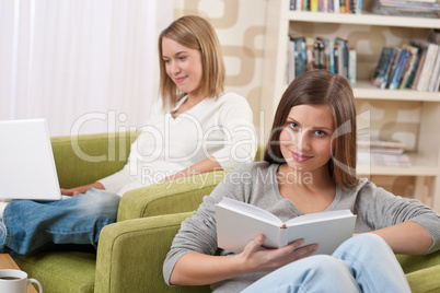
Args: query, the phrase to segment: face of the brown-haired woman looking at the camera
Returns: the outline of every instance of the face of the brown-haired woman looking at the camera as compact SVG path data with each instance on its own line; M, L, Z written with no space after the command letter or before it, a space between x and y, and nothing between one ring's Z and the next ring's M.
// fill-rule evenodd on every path
M328 173L333 121L326 105L299 105L290 109L279 134L280 151L290 168Z

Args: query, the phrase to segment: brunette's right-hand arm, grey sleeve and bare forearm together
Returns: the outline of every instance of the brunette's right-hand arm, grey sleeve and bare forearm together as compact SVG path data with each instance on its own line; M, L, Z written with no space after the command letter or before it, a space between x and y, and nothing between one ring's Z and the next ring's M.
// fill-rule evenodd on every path
M367 183L357 195L358 231L380 235L396 254L430 254L440 248L440 215L418 200Z

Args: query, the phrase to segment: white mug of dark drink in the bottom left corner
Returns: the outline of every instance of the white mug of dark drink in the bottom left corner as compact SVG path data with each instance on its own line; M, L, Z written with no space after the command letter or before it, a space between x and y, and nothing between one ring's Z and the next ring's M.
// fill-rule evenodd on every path
M27 279L27 273L21 270L0 270L1 293L26 293L27 285L35 283L38 292L43 293L42 284L35 279Z

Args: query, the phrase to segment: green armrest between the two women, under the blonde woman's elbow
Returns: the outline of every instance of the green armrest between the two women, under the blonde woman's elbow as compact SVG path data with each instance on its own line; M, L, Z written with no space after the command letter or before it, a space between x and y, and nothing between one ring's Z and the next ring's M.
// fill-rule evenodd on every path
M120 199L117 221L195 211L227 174L216 171L130 190Z

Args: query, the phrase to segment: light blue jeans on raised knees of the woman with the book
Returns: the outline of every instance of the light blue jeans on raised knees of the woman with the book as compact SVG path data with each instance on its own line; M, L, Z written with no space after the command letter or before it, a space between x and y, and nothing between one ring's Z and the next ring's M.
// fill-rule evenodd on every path
M293 261L259 279L251 292L410 292L389 245L378 235L362 234L343 243L332 256Z

